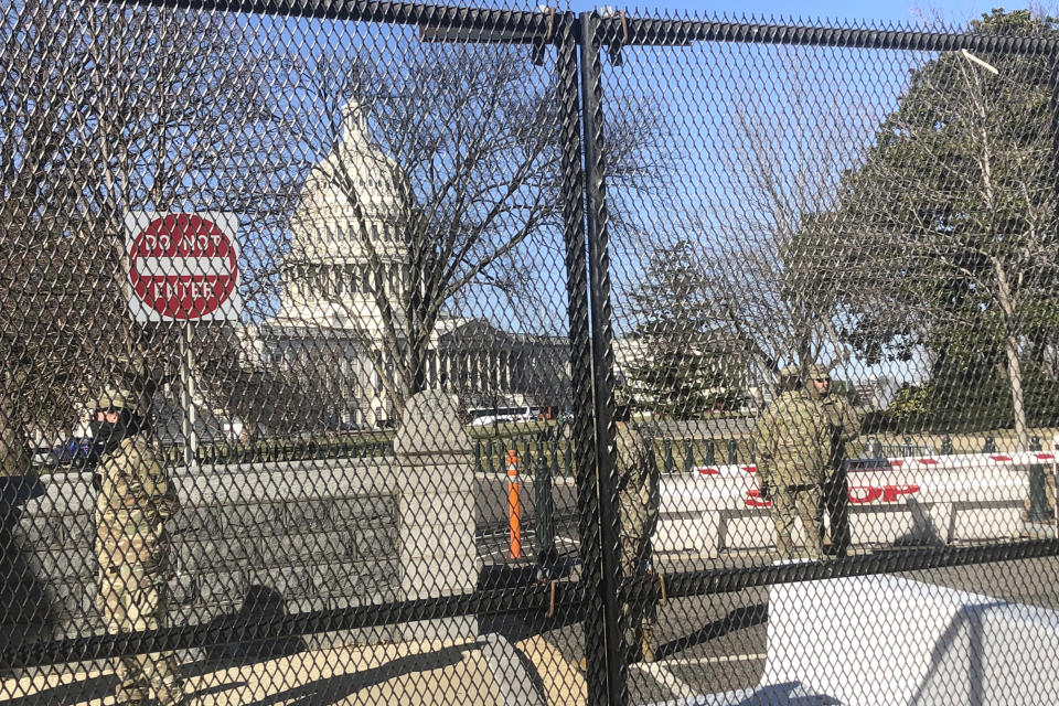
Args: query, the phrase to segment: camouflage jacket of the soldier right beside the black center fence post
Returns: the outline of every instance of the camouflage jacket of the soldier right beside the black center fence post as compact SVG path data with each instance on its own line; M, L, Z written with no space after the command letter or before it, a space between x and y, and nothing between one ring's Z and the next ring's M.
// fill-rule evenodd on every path
M628 424L614 435L618 521L622 537L650 537L659 522L659 464L654 450Z

